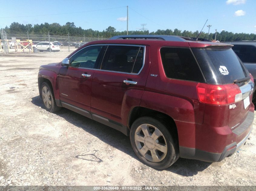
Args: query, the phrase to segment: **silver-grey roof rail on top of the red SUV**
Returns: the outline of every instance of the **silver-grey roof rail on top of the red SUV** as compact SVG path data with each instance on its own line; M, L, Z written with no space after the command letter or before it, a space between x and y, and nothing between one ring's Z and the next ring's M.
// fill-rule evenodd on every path
M186 40L179 36L171 36L171 35L119 35L110 38L111 40L117 39L146 39L146 40L167 40L167 41L183 41Z

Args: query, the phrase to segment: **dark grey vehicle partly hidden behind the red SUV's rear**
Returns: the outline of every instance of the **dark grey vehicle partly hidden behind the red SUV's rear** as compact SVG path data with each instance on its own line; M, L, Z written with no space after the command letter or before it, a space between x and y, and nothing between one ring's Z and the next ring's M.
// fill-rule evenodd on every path
M256 41L234 41L225 42L234 45L232 49L237 54L237 56L244 63L248 71L252 74L254 78L254 84L256 83ZM254 87L253 103L256 105L256 93Z

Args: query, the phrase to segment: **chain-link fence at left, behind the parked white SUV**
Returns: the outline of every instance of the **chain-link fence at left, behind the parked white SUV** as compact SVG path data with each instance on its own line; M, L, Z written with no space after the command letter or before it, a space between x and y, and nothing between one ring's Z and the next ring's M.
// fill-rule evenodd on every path
M5 36L2 34L5 34ZM88 43L95 40L108 40L108 38L86 37L85 35L70 36L69 33L66 35L58 35L58 34L53 34L49 32L36 34L36 33L29 33L29 32L1 30L2 47L3 45L4 46L6 45L8 50L8 43L11 43L14 38L16 38L16 40L13 43L16 43L16 41L29 42L31 40L32 40L32 44L37 44L39 42L54 42L54 41L56 42L57 41L62 43L62 46L75 46L75 43ZM23 43L23 44L26 44L26 43Z

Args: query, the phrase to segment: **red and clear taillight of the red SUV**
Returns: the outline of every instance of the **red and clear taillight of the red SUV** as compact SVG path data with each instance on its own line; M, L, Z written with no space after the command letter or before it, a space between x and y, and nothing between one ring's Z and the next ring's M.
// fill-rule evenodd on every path
M196 89L201 103L227 105L242 100L242 93L237 84L213 85L199 83Z

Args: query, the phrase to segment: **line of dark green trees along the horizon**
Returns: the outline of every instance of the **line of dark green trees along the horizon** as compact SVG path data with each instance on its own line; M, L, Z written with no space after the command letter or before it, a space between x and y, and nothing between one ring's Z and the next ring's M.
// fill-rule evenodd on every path
M99 38L110 38L116 35L126 35L127 31L116 31L114 27L109 26L103 31L92 30L92 29L82 29L81 27L76 27L74 22L67 22L65 25L60 25L58 23L44 23L44 24L19 24L18 22L13 22L9 27L6 26L4 30L7 33L26 33L29 34L47 34L48 32L53 35L67 35L70 36L85 36L85 37L99 37ZM177 35L183 37L197 37L199 31L188 31L188 30L178 30L178 29L166 29L157 30L155 32L149 32L148 30L131 30L128 34L152 34L152 35ZM200 38L208 38L208 33L202 32ZM209 34L209 40L215 39L215 33ZM216 40L219 41L238 41L238 40L256 40L256 34L251 33L232 33L225 30L216 33Z

